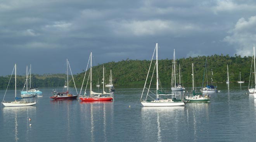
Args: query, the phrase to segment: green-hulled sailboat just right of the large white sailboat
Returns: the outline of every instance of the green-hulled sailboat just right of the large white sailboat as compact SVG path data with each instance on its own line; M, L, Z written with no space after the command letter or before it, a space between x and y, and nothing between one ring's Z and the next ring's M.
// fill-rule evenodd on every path
M196 92L195 87L194 87L194 63L192 63L192 96L186 96L185 100L188 103L205 103L205 102L210 102L210 96L208 95L202 95L201 92Z

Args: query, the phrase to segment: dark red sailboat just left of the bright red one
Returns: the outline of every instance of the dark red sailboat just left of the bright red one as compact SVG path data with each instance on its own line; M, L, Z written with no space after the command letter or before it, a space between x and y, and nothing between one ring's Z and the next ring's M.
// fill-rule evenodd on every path
M77 98L77 96L78 96L78 95L69 94L69 92L68 92L68 89L69 89L69 86L68 86L68 64L69 63L68 63L68 60L67 60L67 91L66 92L54 91L53 95L50 96L50 98L52 98L53 100L75 100Z

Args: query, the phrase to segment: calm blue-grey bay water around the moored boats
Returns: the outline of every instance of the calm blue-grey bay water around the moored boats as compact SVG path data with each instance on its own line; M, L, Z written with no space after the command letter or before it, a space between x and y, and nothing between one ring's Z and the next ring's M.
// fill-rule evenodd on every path
M218 84L211 103L142 107L140 88L116 88L112 102L52 101L0 110L0 142L253 142L256 100L247 84ZM190 90L190 89L188 89ZM0 90L2 101L5 90ZM5 100L11 100L9 91ZM129 107L130 106L130 107ZM31 122L28 121L31 118ZM32 126L30 127L29 124Z

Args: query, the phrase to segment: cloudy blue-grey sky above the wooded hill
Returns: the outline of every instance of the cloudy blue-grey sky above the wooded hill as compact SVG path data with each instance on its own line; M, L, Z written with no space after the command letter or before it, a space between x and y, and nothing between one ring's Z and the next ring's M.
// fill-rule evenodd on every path
M252 56L255 0L1 0L0 76L66 73L93 64Z

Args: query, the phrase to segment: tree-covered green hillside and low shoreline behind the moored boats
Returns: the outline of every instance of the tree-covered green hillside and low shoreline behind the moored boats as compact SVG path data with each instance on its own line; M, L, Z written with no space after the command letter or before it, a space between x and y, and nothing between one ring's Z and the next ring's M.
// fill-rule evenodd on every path
M192 82L192 63L194 63L194 74L195 81L202 82L202 77L204 73L206 56L188 57L176 60L176 65L178 69L178 64L180 64L182 83ZM228 55L212 55L207 56L208 71L212 69L213 71L213 81L214 82L225 82L227 80L227 64L229 71L230 82L237 82L239 79L239 71L241 71L241 79L248 82L250 71L251 71L251 61L252 57L241 57L235 55L235 57L229 57ZM159 60L159 78L161 84L170 84L171 82L171 69L172 60L162 59ZM155 61L154 61L155 63ZM152 66L154 66L154 63ZM103 66L105 68L105 83L109 83L110 69L112 69L112 78L114 85L144 85L145 79L147 77L147 72L149 69L150 61L147 60L130 60L126 59L119 62L109 62L100 64L98 66L92 67L93 73L93 85L98 83L101 84L103 78ZM74 75L76 86L81 86L84 78L84 74ZM88 80L89 71L86 73L85 83ZM152 74L152 72L151 72ZM17 77L17 85L22 87L24 85L25 76ZM70 76L71 78L71 76ZM5 88L8 85L10 76L0 77L0 87ZM66 80L66 74L32 74L33 86L64 86ZM153 83L155 83L155 78L153 78ZM70 85L73 85L73 81L70 81ZM14 86L14 81L11 81L10 87Z

